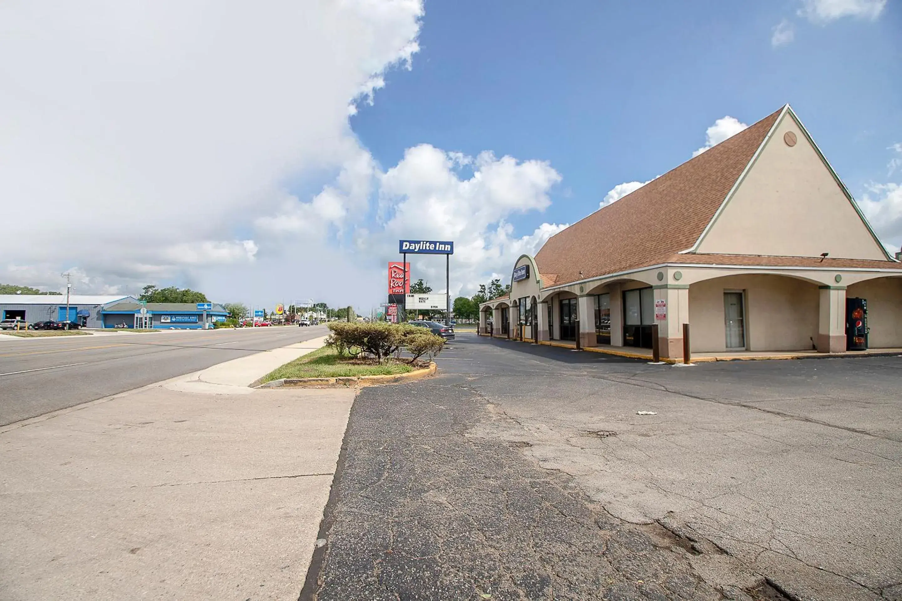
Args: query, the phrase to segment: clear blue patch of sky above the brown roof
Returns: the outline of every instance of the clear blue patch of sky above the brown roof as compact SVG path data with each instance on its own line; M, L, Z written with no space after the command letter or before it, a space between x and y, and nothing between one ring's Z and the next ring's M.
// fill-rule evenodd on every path
M413 68L394 69L352 126L383 165L420 142L548 160L545 214L572 223L615 185L690 158L724 115L793 105L859 196L902 140L902 11L810 23L796 1L427 2ZM787 19L795 40L773 47Z

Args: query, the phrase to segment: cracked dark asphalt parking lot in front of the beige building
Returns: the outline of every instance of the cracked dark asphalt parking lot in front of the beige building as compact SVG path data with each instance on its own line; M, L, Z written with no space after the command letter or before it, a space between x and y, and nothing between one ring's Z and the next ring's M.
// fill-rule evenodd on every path
M902 359L438 363L357 397L302 599L902 598Z

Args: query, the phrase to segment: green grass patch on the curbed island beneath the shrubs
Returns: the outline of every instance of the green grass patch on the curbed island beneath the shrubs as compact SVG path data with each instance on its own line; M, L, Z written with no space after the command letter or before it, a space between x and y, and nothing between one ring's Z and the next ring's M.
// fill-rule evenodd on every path
M324 346L303 357L273 369L259 380L260 384L281 378L347 378L357 376L393 376L406 374L423 367L406 361L358 360L347 355L339 355L332 347Z

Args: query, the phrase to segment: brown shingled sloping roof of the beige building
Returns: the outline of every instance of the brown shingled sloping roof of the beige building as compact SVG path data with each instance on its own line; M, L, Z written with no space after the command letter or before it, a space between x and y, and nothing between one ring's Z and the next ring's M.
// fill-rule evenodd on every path
M557 274L560 286L665 263L691 248L782 110L557 232L536 255L539 273Z

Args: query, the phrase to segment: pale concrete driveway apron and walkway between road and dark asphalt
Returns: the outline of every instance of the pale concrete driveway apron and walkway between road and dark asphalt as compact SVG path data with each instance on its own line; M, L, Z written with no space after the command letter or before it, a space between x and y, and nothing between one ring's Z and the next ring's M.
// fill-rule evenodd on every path
M298 597L354 391L192 379L0 429L0 598Z

